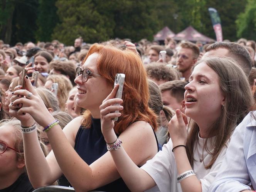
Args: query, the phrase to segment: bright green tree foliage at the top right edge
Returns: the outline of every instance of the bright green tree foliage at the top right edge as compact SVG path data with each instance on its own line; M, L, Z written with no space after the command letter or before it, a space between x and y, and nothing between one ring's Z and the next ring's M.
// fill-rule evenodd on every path
M256 1L248 0L245 11L236 20L237 37L256 39Z

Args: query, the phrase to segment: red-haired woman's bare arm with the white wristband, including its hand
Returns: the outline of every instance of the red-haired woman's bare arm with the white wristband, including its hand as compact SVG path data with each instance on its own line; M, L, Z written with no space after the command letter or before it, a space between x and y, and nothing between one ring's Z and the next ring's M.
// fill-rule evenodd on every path
M30 99L30 92L20 88L21 86L16 87L15 91L13 92L10 102L11 104L9 106L9 113L10 115L19 119L23 127L32 127L32 125L35 124L35 120L32 118L32 116L30 116L29 113L25 113L24 115L21 111L17 111L17 109L21 107L20 103L22 103L22 101ZM32 91L34 94L37 94L35 90ZM21 95L25 95L27 98L21 98ZM38 103L39 109L41 109L40 104L41 103ZM27 108L27 105L24 103L23 107ZM42 113L43 112L44 111L42 111ZM30 182L33 187L38 188L54 183L61 176L61 170L52 152L48 155L48 160L46 160L39 144L36 129L30 133L23 133L23 140L25 164Z

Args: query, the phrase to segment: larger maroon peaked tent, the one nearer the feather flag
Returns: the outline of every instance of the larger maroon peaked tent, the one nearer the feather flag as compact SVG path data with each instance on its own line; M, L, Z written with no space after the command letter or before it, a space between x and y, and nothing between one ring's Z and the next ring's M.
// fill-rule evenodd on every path
M183 31L179 32L178 34L173 37L175 40L189 40L189 41L202 41L202 42L215 42L215 39L211 39L206 37L203 34L200 34L197 30L195 30L192 26L187 27Z

